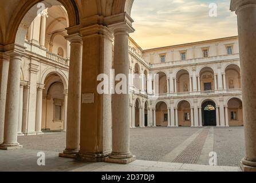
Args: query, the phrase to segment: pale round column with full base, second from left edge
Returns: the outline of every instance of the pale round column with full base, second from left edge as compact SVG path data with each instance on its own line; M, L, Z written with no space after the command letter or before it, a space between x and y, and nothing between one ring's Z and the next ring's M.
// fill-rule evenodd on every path
M3 144L0 145L0 149L4 150L22 148L17 142L20 69L21 56L17 53L11 53L6 93L5 132Z

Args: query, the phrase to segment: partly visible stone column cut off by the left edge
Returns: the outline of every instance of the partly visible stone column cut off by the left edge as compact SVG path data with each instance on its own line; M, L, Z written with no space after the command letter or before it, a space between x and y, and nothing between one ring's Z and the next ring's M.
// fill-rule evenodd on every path
M5 126L6 90L9 70L9 55L0 53L0 144L3 142Z

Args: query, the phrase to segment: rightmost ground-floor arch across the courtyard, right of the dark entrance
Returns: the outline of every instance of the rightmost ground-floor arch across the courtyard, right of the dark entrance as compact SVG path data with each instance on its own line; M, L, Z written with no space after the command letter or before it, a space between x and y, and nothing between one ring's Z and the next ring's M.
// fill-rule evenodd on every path
M239 98L231 98L227 102L229 109L229 126L243 126L243 105Z

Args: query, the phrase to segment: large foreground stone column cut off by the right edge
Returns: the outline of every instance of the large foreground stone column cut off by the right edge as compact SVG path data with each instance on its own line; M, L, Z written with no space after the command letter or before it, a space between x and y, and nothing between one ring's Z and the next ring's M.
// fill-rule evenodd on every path
M245 125L246 157L242 160L244 171L256 172L256 1L231 1L231 10L238 17L239 53L243 90L243 118Z

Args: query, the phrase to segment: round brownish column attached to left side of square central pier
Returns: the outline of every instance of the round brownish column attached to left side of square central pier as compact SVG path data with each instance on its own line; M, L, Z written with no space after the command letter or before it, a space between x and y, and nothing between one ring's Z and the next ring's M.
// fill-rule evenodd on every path
M66 149L59 156L74 158L80 149L82 38L80 34L73 34L66 37L66 39L70 41Z

